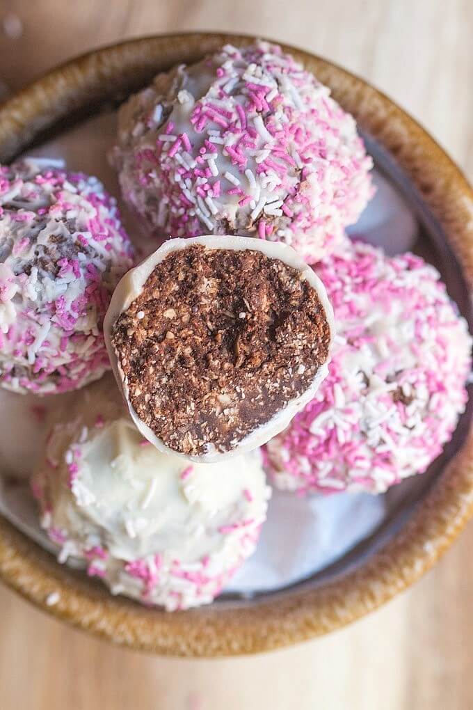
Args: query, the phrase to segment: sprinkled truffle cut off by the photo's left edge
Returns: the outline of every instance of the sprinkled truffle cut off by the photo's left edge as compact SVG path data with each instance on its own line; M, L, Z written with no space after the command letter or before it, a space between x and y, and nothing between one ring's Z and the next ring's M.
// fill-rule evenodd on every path
M132 266L116 201L62 161L0 167L0 385L60 393L109 368L102 321Z

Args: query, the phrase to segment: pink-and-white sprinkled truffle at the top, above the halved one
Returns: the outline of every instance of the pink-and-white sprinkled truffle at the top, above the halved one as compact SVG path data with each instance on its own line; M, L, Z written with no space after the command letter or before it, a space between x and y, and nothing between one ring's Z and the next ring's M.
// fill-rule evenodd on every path
M330 90L276 45L226 45L131 97L112 153L157 237L237 234L333 250L372 196L372 160Z

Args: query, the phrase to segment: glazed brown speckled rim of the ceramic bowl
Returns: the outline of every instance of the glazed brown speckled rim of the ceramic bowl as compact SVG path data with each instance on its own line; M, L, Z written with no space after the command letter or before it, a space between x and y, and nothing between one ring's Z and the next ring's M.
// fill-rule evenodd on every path
M0 107L0 159L9 160L45 131L99 102L143 85L158 70L189 62L248 35L175 33L94 50L48 72ZM415 183L440 222L469 285L473 280L473 190L431 136L385 94L332 62L284 49L328 84L335 99L379 141ZM165 613L113 597L60 567L0 517L0 578L53 616L96 636L161 655L242 655L329 633L389 601L447 550L473 513L473 433L421 506L360 567L316 589L291 589L249 606L218 605ZM48 606L51 592L59 601Z

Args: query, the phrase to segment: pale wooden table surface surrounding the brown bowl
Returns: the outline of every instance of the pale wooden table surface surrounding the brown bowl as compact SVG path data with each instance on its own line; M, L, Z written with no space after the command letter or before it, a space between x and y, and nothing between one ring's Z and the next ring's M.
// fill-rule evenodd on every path
M242 31L380 87L473 178L472 0L0 0L0 95L120 38ZM473 524L433 572L330 637L237 660L113 648L0 588L1 710L470 710Z

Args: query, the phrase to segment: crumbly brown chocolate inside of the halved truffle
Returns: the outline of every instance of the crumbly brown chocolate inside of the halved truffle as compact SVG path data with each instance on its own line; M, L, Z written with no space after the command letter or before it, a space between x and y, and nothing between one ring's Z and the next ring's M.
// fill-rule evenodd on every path
M112 331L140 420L193 456L231 451L306 391L329 342L299 271L260 251L203 245L158 263Z

